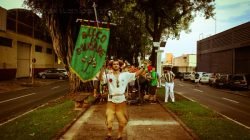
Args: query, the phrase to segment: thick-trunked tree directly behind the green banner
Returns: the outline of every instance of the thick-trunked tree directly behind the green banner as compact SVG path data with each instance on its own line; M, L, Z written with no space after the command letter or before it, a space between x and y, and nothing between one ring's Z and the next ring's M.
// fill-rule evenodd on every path
M100 9L103 8L101 10L105 10L110 1L96 2L102 6L100 6ZM86 17L94 20L93 2L89 0L25 0L24 4L35 13L42 15L52 38L53 49L65 64L66 69L69 70L74 42L80 27L80 23L76 23L76 19ZM105 14L99 16L102 17ZM70 92L77 92L80 87L80 79L75 74L69 73L69 80Z

